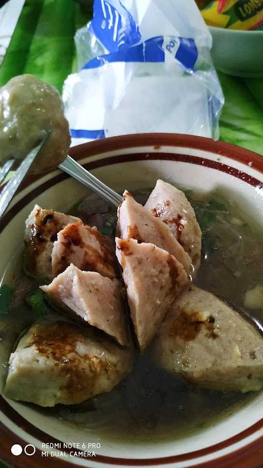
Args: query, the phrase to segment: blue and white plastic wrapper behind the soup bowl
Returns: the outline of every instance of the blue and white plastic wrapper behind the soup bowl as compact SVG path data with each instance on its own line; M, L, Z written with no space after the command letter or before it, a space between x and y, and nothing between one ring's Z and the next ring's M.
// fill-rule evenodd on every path
M194 0L95 0L63 101L72 145L171 132L217 139L224 102Z

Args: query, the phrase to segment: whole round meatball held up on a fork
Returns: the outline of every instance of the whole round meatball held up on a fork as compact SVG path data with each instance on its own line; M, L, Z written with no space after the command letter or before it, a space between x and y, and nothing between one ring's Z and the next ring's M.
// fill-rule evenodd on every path
M67 155L70 134L62 100L57 89L33 75L14 77L0 88L0 165L24 159L49 131L31 173L55 169Z

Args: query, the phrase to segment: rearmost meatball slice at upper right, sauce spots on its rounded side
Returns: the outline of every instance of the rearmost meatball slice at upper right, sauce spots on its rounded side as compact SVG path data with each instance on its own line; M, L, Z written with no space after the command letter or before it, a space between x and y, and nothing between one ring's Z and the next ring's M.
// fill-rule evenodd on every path
M190 255L196 273L200 266L202 232L184 193L159 179L144 207L167 224Z

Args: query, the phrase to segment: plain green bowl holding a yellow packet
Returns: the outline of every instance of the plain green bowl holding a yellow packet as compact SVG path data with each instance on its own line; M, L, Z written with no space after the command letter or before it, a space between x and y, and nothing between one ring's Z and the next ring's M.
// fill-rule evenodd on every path
M239 31L209 26L215 67L229 75L263 77L263 31Z

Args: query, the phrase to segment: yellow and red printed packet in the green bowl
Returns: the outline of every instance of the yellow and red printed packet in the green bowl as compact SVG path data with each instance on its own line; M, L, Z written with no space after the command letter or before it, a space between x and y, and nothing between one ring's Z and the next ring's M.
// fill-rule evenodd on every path
M215 0L201 10L210 26L263 30L263 0Z

